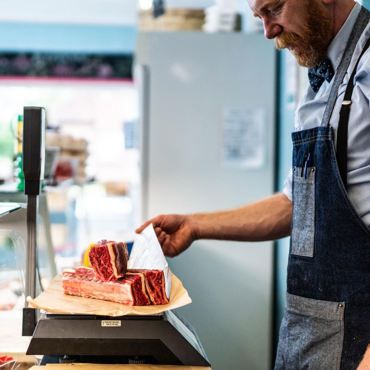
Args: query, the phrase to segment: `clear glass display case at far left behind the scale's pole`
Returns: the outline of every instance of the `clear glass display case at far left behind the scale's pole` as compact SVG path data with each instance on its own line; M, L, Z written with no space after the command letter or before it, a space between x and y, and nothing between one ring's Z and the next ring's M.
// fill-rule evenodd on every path
M38 218L38 270L36 293L40 293L54 277L53 250L47 243L43 217ZM33 363L26 356L30 341L22 337L22 309L25 305L25 266L27 208L24 203L0 202L0 355L22 363Z

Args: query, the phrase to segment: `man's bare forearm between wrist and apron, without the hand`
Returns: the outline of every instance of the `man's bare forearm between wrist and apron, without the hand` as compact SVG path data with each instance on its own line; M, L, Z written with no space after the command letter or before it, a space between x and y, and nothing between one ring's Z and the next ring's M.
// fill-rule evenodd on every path
M228 211L189 215L196 239L275 240L290 235L292 202L284 194Z

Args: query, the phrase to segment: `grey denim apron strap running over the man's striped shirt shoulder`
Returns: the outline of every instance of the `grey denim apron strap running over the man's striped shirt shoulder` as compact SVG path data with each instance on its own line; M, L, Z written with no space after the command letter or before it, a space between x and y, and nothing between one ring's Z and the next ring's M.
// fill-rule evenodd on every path
M361 7L360 13L357 16L356 22L347 41L346 47L344 48L342 60L340 61L338 69L335 73L333 85L329 94L329 99L327 101L323 119L321 121L321 126L329 126L330 117L332 117L334 109L334 104L338 97L339 86L343 82L344 75L346 74L347 69L351 63L354 49L356 48L357 42L359 41L365 27L369 23L369 20L370 12L364 7Z

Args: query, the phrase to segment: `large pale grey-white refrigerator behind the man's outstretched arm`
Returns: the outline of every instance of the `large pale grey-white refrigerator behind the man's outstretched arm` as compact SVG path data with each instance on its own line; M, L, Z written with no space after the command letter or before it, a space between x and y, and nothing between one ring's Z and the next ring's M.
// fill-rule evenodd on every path
M142 32L142 219L273 194L276 51L262 34ZM270 369L273 243L199 240L170 267L213 370Z

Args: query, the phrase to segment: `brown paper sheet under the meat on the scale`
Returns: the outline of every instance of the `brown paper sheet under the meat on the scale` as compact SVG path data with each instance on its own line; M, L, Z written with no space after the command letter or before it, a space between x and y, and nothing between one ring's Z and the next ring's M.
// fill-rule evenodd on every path
M171 295L167 305L125 306L101 299L76 297L64 294L62 276L57 275L44 292L32 299L27 297L28 307L60 313L77 313L101 316L153 315L191 303L187 290L172 274ZM86 368L85 368L86 369Z

